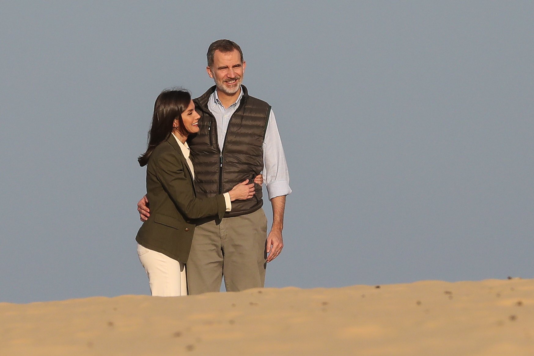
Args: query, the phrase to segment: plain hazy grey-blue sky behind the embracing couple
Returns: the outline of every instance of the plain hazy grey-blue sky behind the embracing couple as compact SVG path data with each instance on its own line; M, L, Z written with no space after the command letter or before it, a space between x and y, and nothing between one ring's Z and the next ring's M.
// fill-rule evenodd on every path
M150 294L137 156L161 90L213 85L220 38L272 105L290 172L265 287L532 278L533 15L530 1L0 3L0 302Z

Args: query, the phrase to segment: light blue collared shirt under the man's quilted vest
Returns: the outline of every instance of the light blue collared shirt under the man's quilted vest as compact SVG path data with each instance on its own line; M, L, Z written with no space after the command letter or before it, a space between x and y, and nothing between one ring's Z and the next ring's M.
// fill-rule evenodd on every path
M221 104L217 95L217 90L215 90L209 97L208 108L217 122L217 138L221 150L223 149L228 123L230 122L232 114L239 107L242 97L243 91L241 90L237 100L227 109ZM269 199L272 199L275 196L288 195L291 193L291 188L289 188L289 171L287 169L286 155L284 154L282 140L280 139L280 133L278 132L278 126L276 125L276 119L274 118L272 110L269 115L269 122L267 123L265 137L263 139L262 175L263 181L267 187Z

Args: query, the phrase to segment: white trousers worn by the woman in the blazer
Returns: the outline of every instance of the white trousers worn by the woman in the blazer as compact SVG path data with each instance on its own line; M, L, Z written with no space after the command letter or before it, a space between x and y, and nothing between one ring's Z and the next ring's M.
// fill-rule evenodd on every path
M137 255L145 268L153 296L176 297L187 295L185 265L161 252L137 244Z

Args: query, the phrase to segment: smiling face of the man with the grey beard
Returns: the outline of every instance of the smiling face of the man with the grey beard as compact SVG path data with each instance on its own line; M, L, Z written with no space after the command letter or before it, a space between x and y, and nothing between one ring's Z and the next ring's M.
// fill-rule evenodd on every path
M213 66L207 67L206 70L215 81L218 90L232 95L241 87L246 66L246 62L241 63L238 50L225 53L217 50L213 56Z

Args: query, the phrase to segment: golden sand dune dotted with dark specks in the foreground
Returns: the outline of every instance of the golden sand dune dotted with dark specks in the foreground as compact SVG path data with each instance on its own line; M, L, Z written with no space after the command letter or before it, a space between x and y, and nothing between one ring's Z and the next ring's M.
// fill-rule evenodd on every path
M0 355L534 355L534 280L0 303Z

